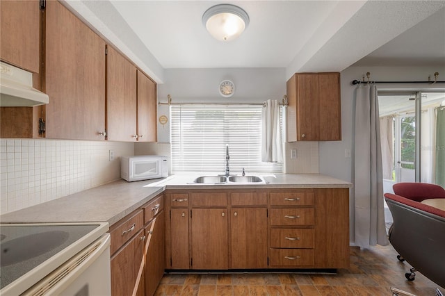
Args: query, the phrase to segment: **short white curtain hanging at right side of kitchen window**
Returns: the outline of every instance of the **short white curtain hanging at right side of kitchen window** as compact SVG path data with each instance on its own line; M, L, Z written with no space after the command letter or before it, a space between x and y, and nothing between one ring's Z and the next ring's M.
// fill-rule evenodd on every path
M280 104L268 99L262 110L261 161L281 163L283 161L282 140L280 133Z

